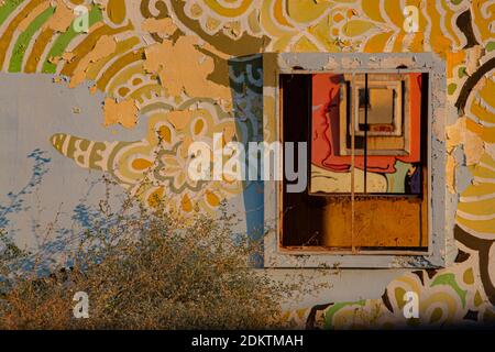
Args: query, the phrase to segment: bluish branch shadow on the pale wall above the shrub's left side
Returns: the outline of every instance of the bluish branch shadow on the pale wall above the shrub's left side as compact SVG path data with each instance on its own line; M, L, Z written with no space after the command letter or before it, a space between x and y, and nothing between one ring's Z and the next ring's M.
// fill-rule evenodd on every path
M54 206L38 204L44 183L48 180L50 184L53 179L52 157L48 155L41 148L28 154L26 163L32 164L29 179L22 187L9 191L6 200L0 202L0 264L9 270L8 273L0 271L0 282L4 278L2 275L9 273L35 272L45 276L52 273L54 265L73 266L75 258L70 253L80 244L84 234L91 231L95 224L107 231L118 221L117 215L106 216L99 208L101 204L95 201L101 194L101 187L105 187L100 177L90 182L74 207L59 207L53 219L43 221L47 209ZM109 189L107 204L117 204L119 199L122 201L122 194L114 193L113 188L110 193ZM30 223L20 223L22 219ZM29 237L34 241L20 245L19 239L28 237L25 232L31 232Z

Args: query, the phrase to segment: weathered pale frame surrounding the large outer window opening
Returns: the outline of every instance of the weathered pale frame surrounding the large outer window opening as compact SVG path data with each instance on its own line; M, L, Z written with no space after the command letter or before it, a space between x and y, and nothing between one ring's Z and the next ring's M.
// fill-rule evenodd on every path
M428 251L333 252L282 246L282 182L265 182L265 267L433 268L453 262L455 199L446 186L446 63L421 54L263 54L263 124L265 141L282 141L279 75L315 73L428 73ZM274 121L272 120L274 119ZM433 131L432 125L436 125ZM274 127L274 128L271 128ZM309 151L308 151L309 153ZM435 157L433 157L435 155ZM433 177L435 175L435 177ZM449 223L447 223L449 222ZM452 222L452 223L450 223Z

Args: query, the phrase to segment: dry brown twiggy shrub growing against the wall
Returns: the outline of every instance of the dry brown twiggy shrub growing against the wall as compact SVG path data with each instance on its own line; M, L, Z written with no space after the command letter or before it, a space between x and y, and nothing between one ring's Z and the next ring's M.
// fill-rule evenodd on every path
M36 268L8 273L8 261L26 254L12 243L3 251L0 328L285 327L280 301L294 285L250 266L257 246L232 233L235 220L224 210L217 219L184 219L165 205L146 209L135 195L117 212L108 200L99 208L101 217L80 234L69 268L55 265L44 277ZM76 292L89 296L88 319L74 318Z

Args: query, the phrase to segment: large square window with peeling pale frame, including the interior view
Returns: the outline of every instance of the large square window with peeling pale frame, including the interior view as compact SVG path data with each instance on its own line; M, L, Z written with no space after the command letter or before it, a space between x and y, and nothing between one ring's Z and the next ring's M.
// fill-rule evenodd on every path
M272 266L300 257L351 267L444 265L446 212L437 210L444 207L444 168L431 161L433 146L442 147L431 136L433 119L441 119L431 101L444 78L438 62L389 54L398 58L388 57L387 67L371 65L385 54L361 54L367 68L345 67L345 54L328 54L341 63L312 69L300 65L311 54L286 55L278 55L273 79L278 138L307 143L308 187L288 193L285 178L275 187L276 249L268 241L265 258Z

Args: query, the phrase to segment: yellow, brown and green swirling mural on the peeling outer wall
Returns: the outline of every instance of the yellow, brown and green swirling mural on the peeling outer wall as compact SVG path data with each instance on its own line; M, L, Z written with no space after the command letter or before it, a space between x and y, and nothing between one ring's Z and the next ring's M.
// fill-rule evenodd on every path
M77 32L76 7L88 9ZM419 9L418 31L404 30L403 6ZM308 328L387 328L493 322L495 319L495 2L490 0L3 0L0 69L48 74L67 89L105 94L101 124L147 127L141 140L95 141L78 131L47 135L75 167L110 173L153 206L170 199L186 213L215 212L251 184L195 182L188 145L270 135L263 117L263 52L433 52L447 62L448 191L459 195L455 263L392 280L380 299L328 302L288 311ZM246 57L244 57L246 56ZM435 94L435 92L433 92ZM433 125L432 129L436 127ZM462 157L459 157L462 151ZM157 157L155 157L157 156ZM397 162L396 162L397 163ZM155 165L155 172L148 173ZM459 170L471 184L458 189ZM140 180L146 189L136 189ZM255 185L256 186L256 185ZM257 185L260 186L260 185ZM251 187L251 188L250 188ZM252 213L246 218L253 220ZM255 221L263 223L256 216ZM404 293L420 297L420 318L406 320Z

